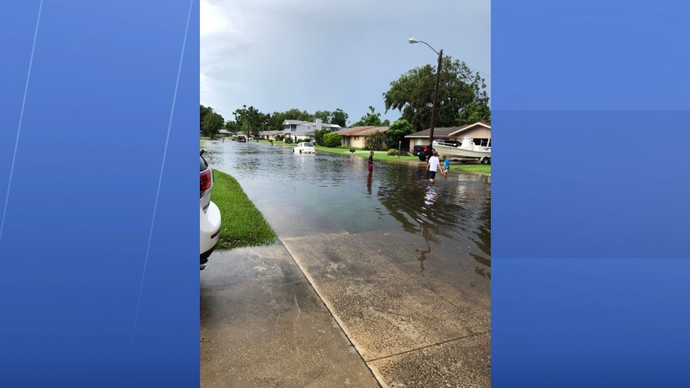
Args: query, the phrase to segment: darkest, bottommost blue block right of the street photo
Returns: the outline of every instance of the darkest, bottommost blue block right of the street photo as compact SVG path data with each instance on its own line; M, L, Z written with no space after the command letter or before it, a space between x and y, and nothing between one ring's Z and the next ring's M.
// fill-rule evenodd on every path
M687 387L688 259L492 264L492 387Z

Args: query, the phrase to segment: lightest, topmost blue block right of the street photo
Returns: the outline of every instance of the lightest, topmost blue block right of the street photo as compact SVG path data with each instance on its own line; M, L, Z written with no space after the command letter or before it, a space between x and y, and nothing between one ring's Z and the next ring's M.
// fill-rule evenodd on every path
M690 109L686 1L493 0L493 109Z

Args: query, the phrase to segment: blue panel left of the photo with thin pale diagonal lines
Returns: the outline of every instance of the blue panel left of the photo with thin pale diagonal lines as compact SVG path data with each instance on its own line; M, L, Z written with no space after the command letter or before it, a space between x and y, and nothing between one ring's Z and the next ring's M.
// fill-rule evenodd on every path
M39 3L0 12L3 203ZM198 384L198 31L198 2L43 2L0 236L3 384Z

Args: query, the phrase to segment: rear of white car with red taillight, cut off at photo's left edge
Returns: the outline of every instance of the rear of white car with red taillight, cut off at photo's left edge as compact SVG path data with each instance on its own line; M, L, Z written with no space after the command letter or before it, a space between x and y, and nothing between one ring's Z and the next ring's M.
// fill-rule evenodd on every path
M213 170L203 158L203 150L199 151L199 257L204 269L213 249L218 244L221 234L221 210L211 202L213 188Z

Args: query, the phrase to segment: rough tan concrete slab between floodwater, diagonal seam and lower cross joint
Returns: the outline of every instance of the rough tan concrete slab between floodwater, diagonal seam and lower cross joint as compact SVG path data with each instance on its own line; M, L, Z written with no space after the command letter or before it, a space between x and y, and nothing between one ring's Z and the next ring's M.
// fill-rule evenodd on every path
M490 330L349 233L283 240L364 360Z

